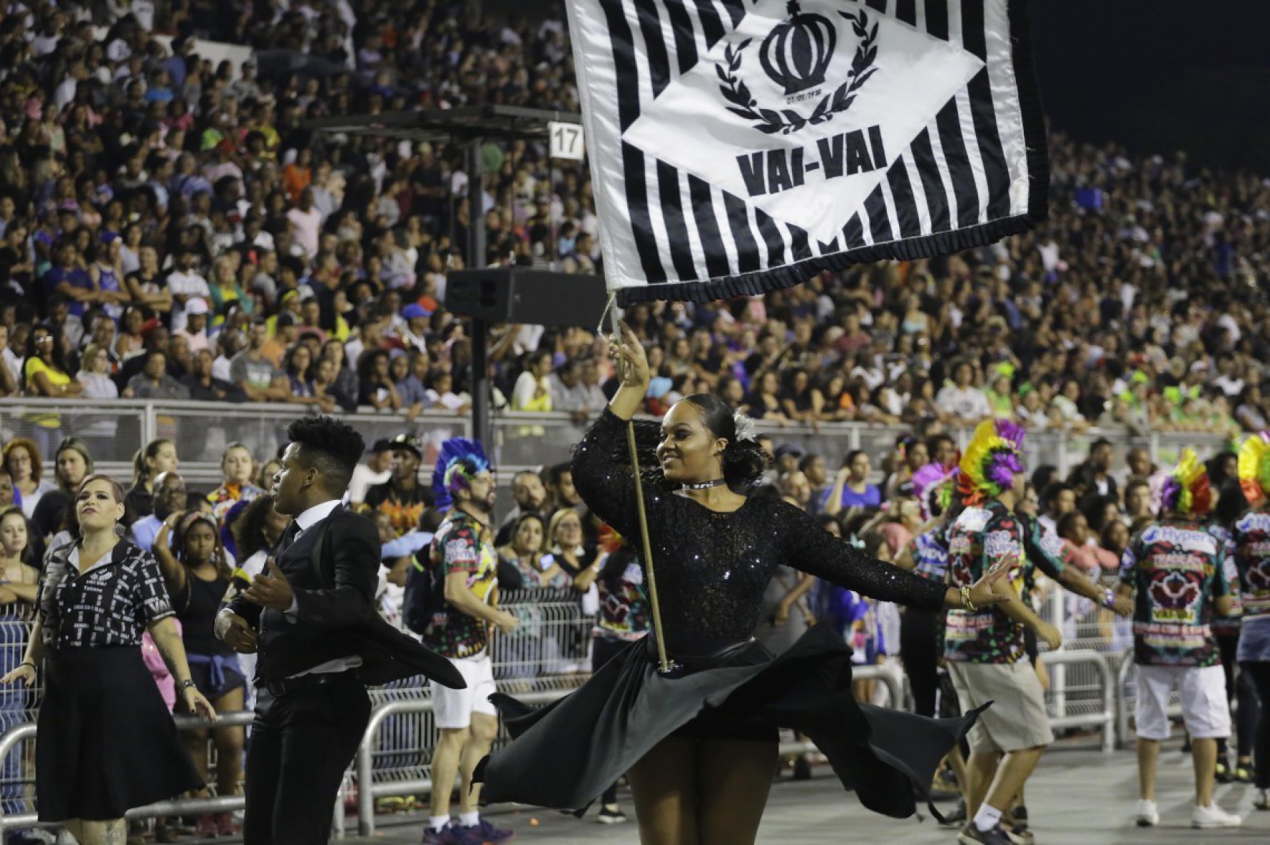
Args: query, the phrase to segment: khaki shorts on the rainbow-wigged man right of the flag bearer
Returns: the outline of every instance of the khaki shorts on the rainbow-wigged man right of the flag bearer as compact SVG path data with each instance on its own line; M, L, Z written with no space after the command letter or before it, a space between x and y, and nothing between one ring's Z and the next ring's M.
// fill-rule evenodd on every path
M1049 745L1054 733L1045 714L1045 693L1030 661L1016 664L949 662L961 712L992 707L979 714L966 741L970 751L994 754Z

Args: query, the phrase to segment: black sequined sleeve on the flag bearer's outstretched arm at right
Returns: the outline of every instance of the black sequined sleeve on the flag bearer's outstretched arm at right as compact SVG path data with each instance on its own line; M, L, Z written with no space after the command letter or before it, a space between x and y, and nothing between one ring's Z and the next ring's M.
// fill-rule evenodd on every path
M780 502L773 530L782 538L787 566L879 601L939 610L946 587L919 575L883 563L824 530L798 508Z

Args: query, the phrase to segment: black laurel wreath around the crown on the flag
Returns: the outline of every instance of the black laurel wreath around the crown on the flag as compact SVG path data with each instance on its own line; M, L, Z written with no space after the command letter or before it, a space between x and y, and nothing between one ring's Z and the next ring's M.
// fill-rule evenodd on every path
M749 86L745 85L743 79L737 76L737 72L740 70L742 53L753 38L747 38L737 44L735 48L732 44L728 46L724 51L724 58L728 62L726 69L723 65L715 65L715 71L723 81L719 90L723 93L724 99L732 103L728 110L747 121L753 121L756 124L754 128L759 132L767 134L789 134L798 132L808 124L819 126L820 123L827 123L833 119L834 114L842 114L850 109L851 104L856 100L856 91L860 90L860 86L878 72L878 69L874 67L874 62L878 58L878 24L874 22L870 27L869 15L864 9L859 14L850 14L847 11L839 11L838 14L851 22L851 28L855 30L860 43L856 46L856 55L851 60L851 70L847 72L847 80L833 94L823 98L812 114L804 117L794 109L777 110L758 105L758 102L749 93Z

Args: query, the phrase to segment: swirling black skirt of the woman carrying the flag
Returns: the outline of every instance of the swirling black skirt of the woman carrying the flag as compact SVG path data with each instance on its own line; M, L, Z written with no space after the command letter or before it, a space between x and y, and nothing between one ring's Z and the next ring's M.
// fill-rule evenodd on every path
M859 704L851 650L827 626L775 658L749 642L681 662L682 672L659 674L646 637L546 707L494 695L513 741L481 763L481 797L579 809L668 736L775 742L784 727L810 738L869 809L904 818L921 797L940 818L930 802L935 770L979 714L931 719Z

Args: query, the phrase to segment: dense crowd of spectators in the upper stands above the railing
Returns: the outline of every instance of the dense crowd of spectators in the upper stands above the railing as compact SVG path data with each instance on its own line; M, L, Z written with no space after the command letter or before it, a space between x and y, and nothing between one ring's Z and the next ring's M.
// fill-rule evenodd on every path
M201 22L198 4L174 6L171 51L140 11L9 10L0 396L462 412L470 345L444 310L447 272L472 258L461 156L302 124L474 103L577 108L559 20L472 25L461 6L260 4L234 33ZM311 75L213 67L196 32L304 44ZM596 270L585 169L535 143L485 154L484 259ZM1058 134L1052 155L1052 221L1034 233L824 274L765 301L634 308L659 376L649 410L707 390L812 425L1264 428L1267 188L1180 154L1130 157ZM608 372L588 332L495 331L498 403L597 410ZM29 428L44 452L56 445L56 415Z

